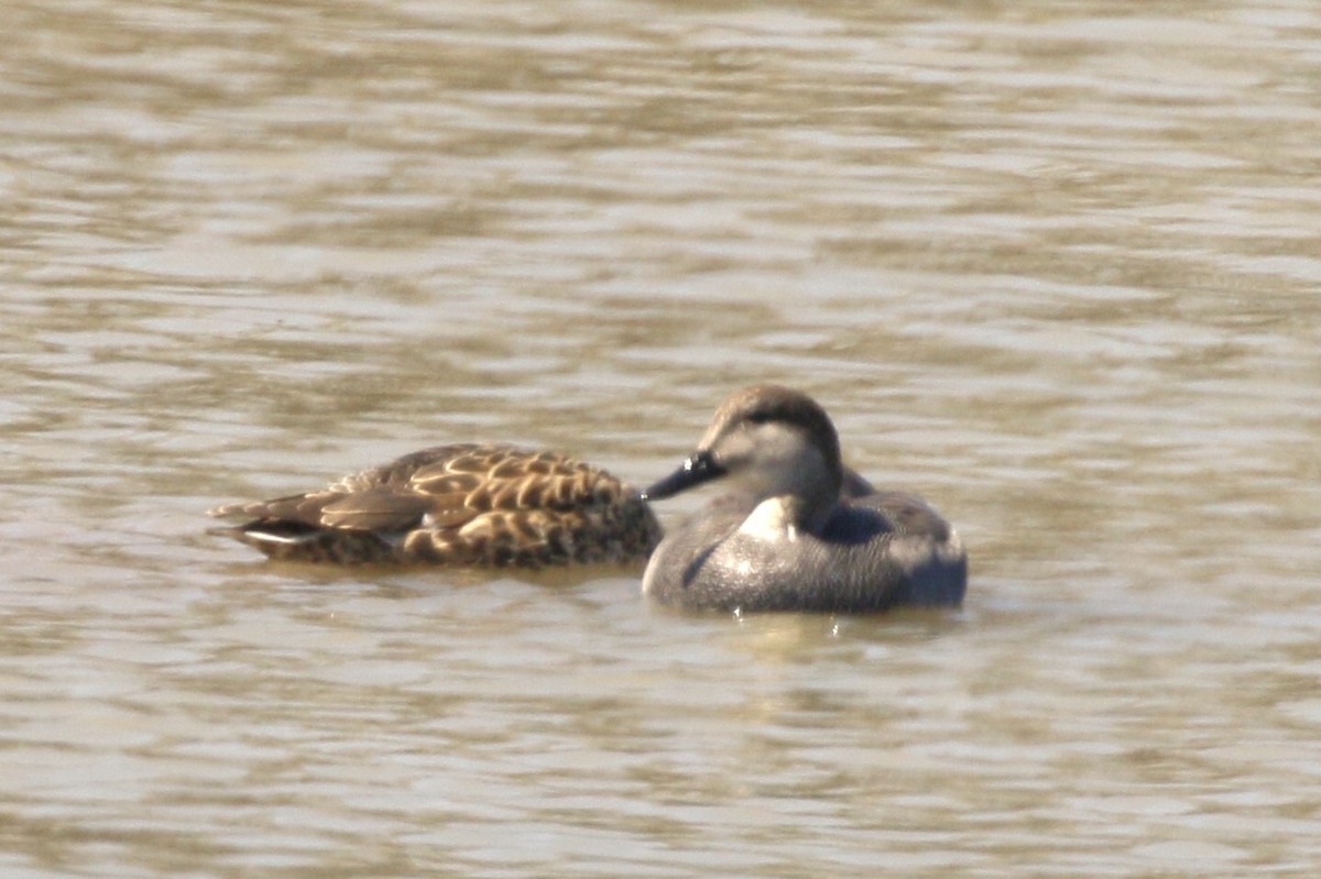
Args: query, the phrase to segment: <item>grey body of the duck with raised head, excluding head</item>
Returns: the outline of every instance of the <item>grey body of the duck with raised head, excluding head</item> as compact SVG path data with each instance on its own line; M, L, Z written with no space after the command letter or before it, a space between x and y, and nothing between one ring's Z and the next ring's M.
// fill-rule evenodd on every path
M921 498L852 498L819 533L748 527L753 509L727 496L671 533L647 565L643 591L731 611L875 612L963 601L962 542Z

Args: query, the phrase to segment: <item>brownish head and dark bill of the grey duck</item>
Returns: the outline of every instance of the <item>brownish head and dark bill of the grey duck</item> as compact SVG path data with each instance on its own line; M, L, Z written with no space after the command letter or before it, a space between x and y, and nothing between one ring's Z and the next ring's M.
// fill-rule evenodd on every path
M843 472L826 410L801 391L758 384L720 404L697 449L643 498L660 500L725 478L756 500L791 498L810 524L830 513Z

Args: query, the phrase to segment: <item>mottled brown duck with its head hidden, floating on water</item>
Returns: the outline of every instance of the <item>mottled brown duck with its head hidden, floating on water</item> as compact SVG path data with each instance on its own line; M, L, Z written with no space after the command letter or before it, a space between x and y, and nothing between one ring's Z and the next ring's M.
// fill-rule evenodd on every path
M660 525L635 488L571 455L503 443L423 449L326 488L211 516L276 561L539 569L647 558Z

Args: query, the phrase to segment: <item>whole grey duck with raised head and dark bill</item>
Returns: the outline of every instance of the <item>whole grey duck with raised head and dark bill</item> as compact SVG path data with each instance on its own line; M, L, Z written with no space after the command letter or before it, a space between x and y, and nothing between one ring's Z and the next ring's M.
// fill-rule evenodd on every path
M839 434L802 391L731 395L649 503L704 483L725 494L651 553L642 593L684 610L872 614L959 606L968 560L918 495L878 491L844 466Z

